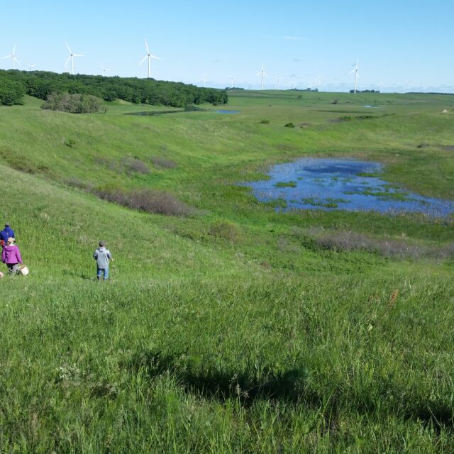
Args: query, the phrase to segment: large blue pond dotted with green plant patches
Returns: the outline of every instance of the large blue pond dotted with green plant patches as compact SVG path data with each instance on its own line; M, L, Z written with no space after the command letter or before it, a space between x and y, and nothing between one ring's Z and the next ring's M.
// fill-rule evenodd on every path
M305 158L275 165L268 174L270 179L245 186L252 187L260 201L286 201L283 210L407 211L437 217L454 213L454 201L406 192L375 176L381 171L378 162ZM276 205L281 209L278 202Z

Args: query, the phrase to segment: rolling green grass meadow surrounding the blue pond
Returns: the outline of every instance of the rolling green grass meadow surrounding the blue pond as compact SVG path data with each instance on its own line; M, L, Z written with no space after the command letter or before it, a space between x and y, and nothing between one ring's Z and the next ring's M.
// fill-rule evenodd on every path
M282 213L238 185L354 157L453 200L454 96L229 96L0 107L0 221L31 270L0 280L0 452L454 452L453 216ZM148 191L158 212L114 203Z

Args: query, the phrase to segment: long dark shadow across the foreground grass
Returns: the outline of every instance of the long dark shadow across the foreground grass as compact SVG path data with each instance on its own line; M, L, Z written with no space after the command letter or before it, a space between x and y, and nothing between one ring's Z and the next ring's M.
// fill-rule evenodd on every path
M203 365L199 358L188 355L163 355L145 351L135 353L123 367L133 373L145 373L151 380L162 375L171 375L185 392L197 397L216 399L218 402L233 398L240 400L243 406L250 406L258 400L276 399L320 409L324 414L333 417L343 412L355 411L358 414L375 414L382 419L382 411L385 411L386 414L401 414L406 420L420 421L438 433L442 430L454 431L453 408L445 402L406 399L406 392L402 390L402 393L399 393L402 396L401 401L397 402L397 407L396 402L389 402L389 405L380 402L381 409L378 409L377 402L367 395L355 397L333 392L325 396L309 389L309 372L304 365L279 372L273 372L266 367L262 367L261 372L235 372L217 370L213 365Z

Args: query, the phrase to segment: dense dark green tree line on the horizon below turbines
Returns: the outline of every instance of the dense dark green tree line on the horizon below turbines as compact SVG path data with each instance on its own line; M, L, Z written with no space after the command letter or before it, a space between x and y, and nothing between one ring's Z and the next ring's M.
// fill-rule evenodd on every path
M226 90L196 87L135 77L57 74L48 71L0 70L0 105L23 104L29 94L46 100L52 93L84 94L104 101L123 99L134 104L184 107L188 104L227 104Z

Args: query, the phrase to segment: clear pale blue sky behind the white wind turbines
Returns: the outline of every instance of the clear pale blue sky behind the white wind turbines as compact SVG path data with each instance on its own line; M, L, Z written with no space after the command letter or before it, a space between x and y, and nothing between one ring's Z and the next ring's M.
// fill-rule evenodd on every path
M0 0L0 57L16 45L18 69L152 77L203 86L353 88L454 92L454 1L106 1ZM11 59L0 60L0 69Z

